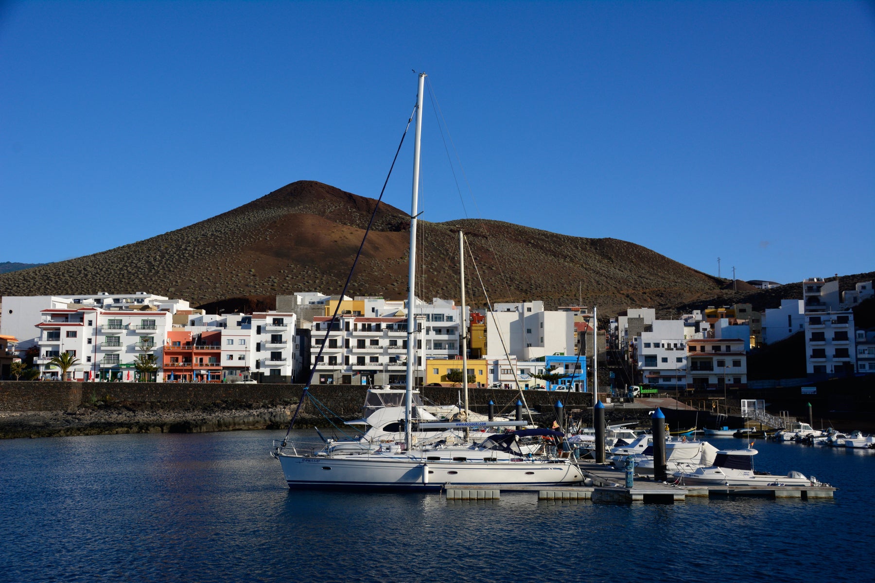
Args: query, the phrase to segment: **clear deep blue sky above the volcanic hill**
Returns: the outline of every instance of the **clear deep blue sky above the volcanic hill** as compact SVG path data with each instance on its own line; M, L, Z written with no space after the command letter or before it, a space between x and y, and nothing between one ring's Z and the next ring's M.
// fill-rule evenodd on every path
M627 239L711 274L719 256L740 279L875 269L859 2L3 3L0 261L147 239L301 179L376 197L412 69L471 189L427 100L423 219ZM411 157L385 198L402 209Z

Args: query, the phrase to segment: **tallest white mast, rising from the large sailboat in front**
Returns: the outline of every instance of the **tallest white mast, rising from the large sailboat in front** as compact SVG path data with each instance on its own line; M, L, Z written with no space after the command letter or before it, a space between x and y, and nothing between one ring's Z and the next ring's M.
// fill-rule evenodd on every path
M411 403L413 402L413 359L416 357L416 215L419 200L419 143L423 133L423 88L425 73L419 73L419 87L416 93L416 134L413 141L413 205L410 210L410 260L407 273L407 382L404 394L404 444L407 450L413 445L410 435Z

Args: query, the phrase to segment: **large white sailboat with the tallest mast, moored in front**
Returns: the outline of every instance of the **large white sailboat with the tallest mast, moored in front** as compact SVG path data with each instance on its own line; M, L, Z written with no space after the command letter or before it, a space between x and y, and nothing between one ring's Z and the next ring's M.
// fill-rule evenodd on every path
M345 489L442 489L446 484L467 485L555 485L579 482L583 475L570 457L535 456L526 446L526 438L558 435L548 429L528 429L495 435L479 444L451 446L416 444L412 415L412 385L416 342L414 296L416 277L416 217L419 186L420 136L423 119L425 73L419 74L416 95L416 134L413 155L413 201L410 212L409 295L407 326L407 379L404 400L404 443L390 443L376 451L298 453L283 440L271 452L283 468L290 488ZM464 306L463 306L464 310ZM464 366L464 365L463 365ZM463 378L467 377L466 371ZM467 403L465 403L467 410ZM418 422L418 430L430 428L464 428L470 422ZM507 426L508 421L493 421L478 426Z

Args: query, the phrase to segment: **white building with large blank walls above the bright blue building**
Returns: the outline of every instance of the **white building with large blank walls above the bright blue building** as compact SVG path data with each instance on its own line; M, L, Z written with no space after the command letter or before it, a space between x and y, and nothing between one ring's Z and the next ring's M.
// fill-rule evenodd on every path
M543 302L496 303L486 312L486 353L519 360L574 353L574 314L545 311Z

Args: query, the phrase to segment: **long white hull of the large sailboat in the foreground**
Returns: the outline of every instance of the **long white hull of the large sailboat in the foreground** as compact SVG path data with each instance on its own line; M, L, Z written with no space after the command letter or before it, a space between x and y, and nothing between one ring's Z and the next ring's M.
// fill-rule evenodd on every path
M580 482L563 460L539 462L424 462L409 457L277 454L290 488L439 490L453 485L559 485Z

